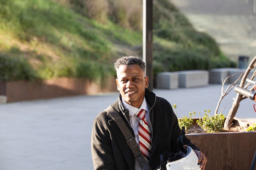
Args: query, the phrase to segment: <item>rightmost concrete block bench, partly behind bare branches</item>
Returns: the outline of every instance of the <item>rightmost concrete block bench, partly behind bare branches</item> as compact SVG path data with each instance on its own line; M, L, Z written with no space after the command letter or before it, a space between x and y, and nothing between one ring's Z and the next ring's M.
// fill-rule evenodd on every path
M242 68L213 68L209 71L209 82L222 84L222 79L224 81L228 76L243 72L245 70L246 69ZM253 73L254 70L249 73L248 78L250 78ZM234 83L240 75L241 74L230 77L229 79L227 79L226 83Z

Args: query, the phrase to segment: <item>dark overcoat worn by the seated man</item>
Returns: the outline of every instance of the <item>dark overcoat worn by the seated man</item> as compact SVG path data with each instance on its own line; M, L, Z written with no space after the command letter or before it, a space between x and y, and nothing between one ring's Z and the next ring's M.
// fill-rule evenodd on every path
M121 95L112 104L126 122L134 136L130 126L129 113L121 104ZM155 93L146 89L146 102L150 108L149 117L152 124L152 150L150 156L150 168L155 170L159 164L159 155L163 150L175 152L176 140L182 134L173 112L171 104ZM184 144L191 146L194 150L199 150L191 141L184 136ZM130 150L121 130L111 118L103 111L94 119L91 137L92 161L94 170L134 170L135 158Z

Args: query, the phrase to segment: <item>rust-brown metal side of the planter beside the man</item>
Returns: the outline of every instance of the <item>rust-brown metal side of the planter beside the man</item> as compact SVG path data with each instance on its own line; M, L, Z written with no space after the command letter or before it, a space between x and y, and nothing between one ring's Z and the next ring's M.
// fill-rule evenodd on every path
M249 170L256 151L256 132L187 134L207 156L205 170Z

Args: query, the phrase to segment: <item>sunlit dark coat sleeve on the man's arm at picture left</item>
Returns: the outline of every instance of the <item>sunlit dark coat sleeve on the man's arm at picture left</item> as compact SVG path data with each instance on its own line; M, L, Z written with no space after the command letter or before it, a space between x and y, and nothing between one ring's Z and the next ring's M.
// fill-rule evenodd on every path
M91 135L94 170L116 170L110 133L103 124L99 119L94 119Z

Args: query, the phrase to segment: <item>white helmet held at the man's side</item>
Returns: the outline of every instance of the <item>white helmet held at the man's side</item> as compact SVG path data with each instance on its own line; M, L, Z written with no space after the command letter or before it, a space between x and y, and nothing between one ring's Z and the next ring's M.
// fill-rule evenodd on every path
M190 146L186 147L185 157L166 164L166 170L201 170L198 164L198 156Z

